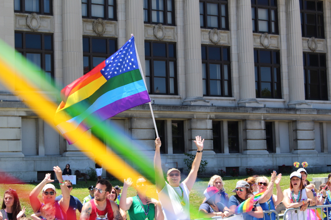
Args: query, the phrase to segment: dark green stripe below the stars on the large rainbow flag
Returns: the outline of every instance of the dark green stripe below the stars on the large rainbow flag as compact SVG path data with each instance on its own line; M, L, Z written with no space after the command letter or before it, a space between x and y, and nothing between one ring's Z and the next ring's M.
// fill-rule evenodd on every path
M70 114L73 118L82 112L84 112L90 105L92 105L100 96L105 94L108 91L116 89L120 86L139 81L141 80L141 74L139 69L132 70L118 76L112 77L109 79L105 84L103 84L97 91L95 91L91 96L88 98L73 104L72 106L64 109L66 112ZM79 90L78 90L79 91Z

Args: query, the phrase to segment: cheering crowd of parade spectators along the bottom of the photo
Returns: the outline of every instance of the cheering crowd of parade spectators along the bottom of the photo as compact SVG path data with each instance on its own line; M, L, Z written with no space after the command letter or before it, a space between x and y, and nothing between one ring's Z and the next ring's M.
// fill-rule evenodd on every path
M80 220L125 220L127 215L131 220L188 220L190 219L189 194L197 178L204 140L197 136L194 142L197 146L196 157L190 173L181 182L181 173L175 168L169 169L166 179L164 178L160 157L161 141L159 138L155 140L154 169L159 200L146 195L148 181L144 177L138 177L135 180L124 179L123 188L120 188L113 187L98 173L100 174L98 181L95 186L88 187L89 193L81 203L77 197L70 195L71 181L62 178L63 173L64 175L71 174L70 165L67 164L63 173L59 167L53 168L59 181L61 195L57 195L56 188L51 183L54 180L51 179L51 174L47 173L29 195L33 214L31 218L28 218L25 217L25 207L21 207L16 190L10 188L4 193L0 220L76 220L76 210L81 212ZM283 192L280 188L281 178L282 174L277 175L273 171L270 180L259 175L239 180L232 190L236 194L229 197L222 177L213 175L204 191L205 198L201 201L202 204L198 210L199 217L225 218L237 214L238 205L251 196L263 192L253 205L253 209L243 213L245 220L275 220L275 213L263 213L263 211L275 210L281 202L286 209L300 208L288 211L286 219L331 220L331 207L324 208L323 212L318 210L315 212L307 208L313 205L331 204L331 173L327 183L321 184L318 190L307 180L307 171L304 168L291 173L289 188ZM136 196L127 197L130 186L137 191ZM276 194L273 194L274 187L276 187ZM40 193L41 201L38 198Z

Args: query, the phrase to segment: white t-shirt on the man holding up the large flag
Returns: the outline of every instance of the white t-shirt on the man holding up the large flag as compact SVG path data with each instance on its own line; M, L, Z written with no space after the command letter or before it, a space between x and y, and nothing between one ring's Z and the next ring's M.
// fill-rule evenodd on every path
M179 186L183 189L183 201L185 205L181 204L182 200L179 196L182 196L182 192L179 187L172 187L166 182L165 187L158 192L165 220L190 219L190 191L183 182Z

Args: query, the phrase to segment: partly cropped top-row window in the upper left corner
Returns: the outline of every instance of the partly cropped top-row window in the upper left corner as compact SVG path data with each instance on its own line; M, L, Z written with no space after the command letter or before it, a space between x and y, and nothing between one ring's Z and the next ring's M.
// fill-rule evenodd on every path
M41 15L52 15L52 0L14 0L14 11L20 13L35 12Z

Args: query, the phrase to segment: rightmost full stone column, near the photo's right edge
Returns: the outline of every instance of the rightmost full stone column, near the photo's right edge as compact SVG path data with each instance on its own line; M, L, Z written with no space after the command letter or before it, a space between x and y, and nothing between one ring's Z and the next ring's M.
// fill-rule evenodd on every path
M300 5L297 0L286 1L287 55L290 108L312 108L305 101L304 64Z

